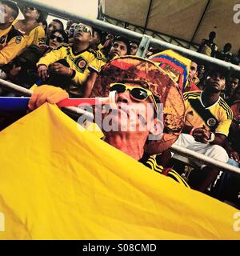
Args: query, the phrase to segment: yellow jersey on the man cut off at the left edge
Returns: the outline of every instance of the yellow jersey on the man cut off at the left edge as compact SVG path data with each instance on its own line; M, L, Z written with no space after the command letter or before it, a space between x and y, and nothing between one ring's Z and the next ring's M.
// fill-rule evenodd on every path
M0 30L0 65L9 63L25 46L26 40L14 26Z

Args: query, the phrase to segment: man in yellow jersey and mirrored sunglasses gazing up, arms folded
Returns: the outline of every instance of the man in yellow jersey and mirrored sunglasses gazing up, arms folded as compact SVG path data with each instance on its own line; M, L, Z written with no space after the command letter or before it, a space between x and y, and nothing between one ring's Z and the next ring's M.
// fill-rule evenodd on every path
M92 38L92 27L78 24L74 32L73 46L59 46L39 60L38 75L42 81L54 86L64 84L64 89L71 97L79 96L82 82L89 75L90 63L97 58L95 69L99 71L102 66L100 54L90 49Z

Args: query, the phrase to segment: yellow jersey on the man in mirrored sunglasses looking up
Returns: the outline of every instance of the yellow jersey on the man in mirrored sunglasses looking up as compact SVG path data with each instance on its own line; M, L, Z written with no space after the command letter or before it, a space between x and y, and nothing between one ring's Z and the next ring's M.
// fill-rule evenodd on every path
M86 81L87 76L90 74L90 70L88 69L89 66L96 72L99 72L102 65L105 64L105 62L102 62L101 55L95 50L88 48L82 52L74 54L71 46L63 44L40 58L37 66L49 66L60 59L65 59L70 68L74 70L72 80L76 85L82 85L82 83ZM95 62L91 64L94 60Z

